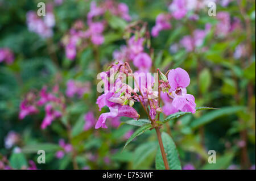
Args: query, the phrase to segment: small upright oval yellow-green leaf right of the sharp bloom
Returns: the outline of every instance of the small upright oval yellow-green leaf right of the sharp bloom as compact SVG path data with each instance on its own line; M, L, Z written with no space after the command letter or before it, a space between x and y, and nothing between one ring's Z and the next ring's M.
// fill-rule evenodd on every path
M209 69L204 69L201 71L199 75L199 82L200 82L200 91L204 94L210 87L211 84L211 76Z

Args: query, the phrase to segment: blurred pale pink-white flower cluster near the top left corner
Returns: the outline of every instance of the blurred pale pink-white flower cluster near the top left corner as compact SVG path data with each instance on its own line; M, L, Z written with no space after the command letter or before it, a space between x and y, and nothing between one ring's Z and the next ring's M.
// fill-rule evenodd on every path
M52 37L52 28L55 26L53 5L47 4L46 15L43 18L39 18L35 11L28 11L27 26L29 31L35 32L43 38Z

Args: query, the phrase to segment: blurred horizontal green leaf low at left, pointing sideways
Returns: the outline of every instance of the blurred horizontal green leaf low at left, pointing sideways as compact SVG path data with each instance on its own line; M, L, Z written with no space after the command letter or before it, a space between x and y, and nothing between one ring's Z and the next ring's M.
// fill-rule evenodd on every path
M54 152L60 150L61 147L56 144L33 144L26 145L22 148L22 153L38 153L38 150L44 150L47 152Z

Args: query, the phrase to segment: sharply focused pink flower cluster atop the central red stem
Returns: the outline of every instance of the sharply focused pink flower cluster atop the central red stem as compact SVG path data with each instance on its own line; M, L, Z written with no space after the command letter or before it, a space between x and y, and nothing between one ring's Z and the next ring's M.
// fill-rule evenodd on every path
M109 71L100 73L104 84L104 94L100 95L96 102L100 110L102 107L108 106L110 112L100 115L95 126L96 129L108 128L105 122L109 117L125 116L138 119L139 114L133 108L134 102L140 102L145 111L147 111L147 107L150 107L148 116L152 121L160 112L164 112L166 115L178 111L196 112L195 98L193 95L187 94L186 90L190 83L187 71L181 68L171 69L167 79L166 75L158 70L163 79L159 81L162 84L159 85L158 91L155 91L155 81L150 73L133 73L127 62L125 64L117 62L110 67ZM128 79L134 79L134 89L131 88L133 84L131 86L126 84L125 75ZM159 94L165 103L163 109L160 107Z

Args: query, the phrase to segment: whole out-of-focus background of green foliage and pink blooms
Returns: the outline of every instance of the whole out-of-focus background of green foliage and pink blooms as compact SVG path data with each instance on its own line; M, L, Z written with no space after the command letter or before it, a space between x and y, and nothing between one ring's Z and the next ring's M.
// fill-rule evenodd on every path
M34 16L39 2L46 3L46 19ZM100 115L96 75L126 44L127 25L140 20L151 32L156 16L171 14L172 1L95 2L105 9L96 17L105 23L97 39L103 36L103 43L74 37L97 14L91 1L0 0L0 169L155 169L154 131L122 151L135 129L119 125L125 118L94 129ZM115 12L121 2L129 7L126 15L125 8ZM213 1L217 16L208 15L209 1L190 2L182 18L170 19L171 28L150 37L147 52L164 73L188 71L188 92L197 106L220 110L186 115L162 129L174 139L183 169L255 169L255 1ZM202 36L194 33L206 29ZM72 37L75 48L67 43ZM44 94L56 97L57 112L42 129L51 108L26 110L22 103ZM135 108L142 112L137 103ZM37 162L40 149L46 151L45 164ZM208 150L216 151L216 164L208 163Z

